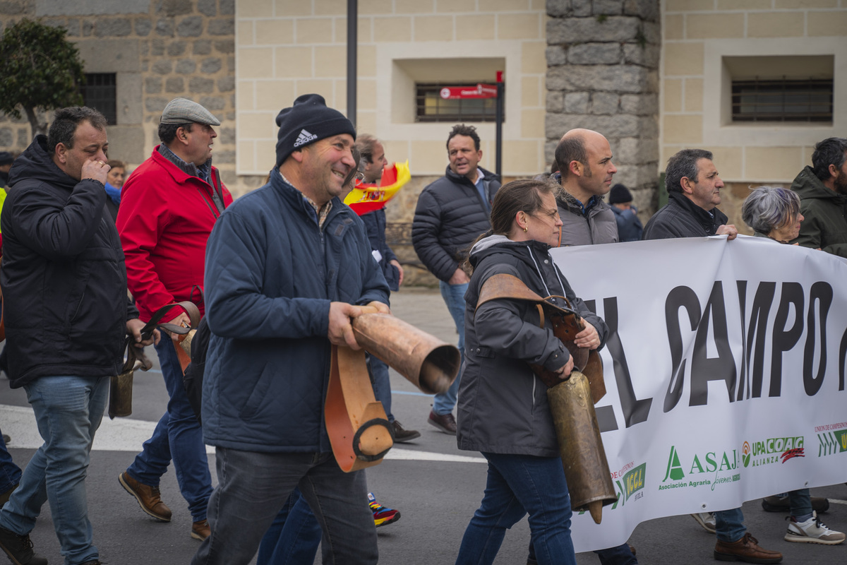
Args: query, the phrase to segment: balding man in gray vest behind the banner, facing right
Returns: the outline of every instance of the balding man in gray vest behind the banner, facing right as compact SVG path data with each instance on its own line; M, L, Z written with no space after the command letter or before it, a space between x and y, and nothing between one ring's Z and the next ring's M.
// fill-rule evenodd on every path
M562 216L562 246L613 243L618 240L617 222L603 195L617 173L612 147L593 130L570 130L556 146L556 163L562 190L556 204Z

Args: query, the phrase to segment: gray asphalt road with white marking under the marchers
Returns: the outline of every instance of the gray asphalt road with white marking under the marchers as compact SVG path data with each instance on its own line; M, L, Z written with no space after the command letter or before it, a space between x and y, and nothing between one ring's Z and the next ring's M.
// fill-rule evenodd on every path
M456 341L455 329L437 291L401 291L392 296L392 307L400 318L446 341ZM155 352L149 352L149 357L155 360ZM419 429L422 435L413 443L396 446L383 463L367 472L369 488L377 499L402 514L398 522L377 530L380 562L388 565L452 563L468 520L482 498L484 460L478 453L459 451L455 438L426 423L431 404L429 396L418 392L394 371L391 372L391 385L395 391L392 412L404 426ZM132 462L141 443L151 434L167 403L161 374L152 371L137 375L134 396L134 412L130 418L109 421L104 417L91 452L86 484L94 540L102 562L109 565L188 563L199 542L189 536L191 517L180 496L174 473L165 474L161 485L163 500L174 511L170 523L148 518L117 480L118 474ZM2 382L0 428L12 436L9 451L23 467L40 445L40 438L24 391L8 389ZM214 479L213 454L209 455L209 465ZM847 529L847 501L844 501L847 486L813 489L812 494L827 496L832 502L829 512L822 515L824 521L833 529ZM784 516L763 512L759 501L746 503L744 511L750 532L761 546L782 551L784 563L847 563L847 546L784 541ZM36 551L51 563L63 561L48 505L42 509L31 538ZM642 523L629 542L636 547L641 563L715 563L712 557L714 536L700 529L689 516ZM495 563L523 565L528 544L529 527L524 519L507 533ZM588 565L599 563L599 560L591 553L584 553L577 556L577 562Z

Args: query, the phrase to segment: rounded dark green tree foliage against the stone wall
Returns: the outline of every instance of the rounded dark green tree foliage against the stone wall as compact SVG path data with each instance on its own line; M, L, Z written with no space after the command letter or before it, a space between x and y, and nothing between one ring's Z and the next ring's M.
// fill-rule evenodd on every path
M80 51L67 30L21 19L0 39L0 111L20 118L23 108L32 135L47 133L36 108L50 110L82 103L85 82Z

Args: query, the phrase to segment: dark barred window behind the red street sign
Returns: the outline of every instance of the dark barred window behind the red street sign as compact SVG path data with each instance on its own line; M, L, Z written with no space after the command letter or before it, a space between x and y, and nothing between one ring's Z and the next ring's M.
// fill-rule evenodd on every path
M456 87L476 89L477 83L416 83L415 121L454 123L495 121L496 98L445 99L441 97L441 89ZM503 119L506 119L505 114Z

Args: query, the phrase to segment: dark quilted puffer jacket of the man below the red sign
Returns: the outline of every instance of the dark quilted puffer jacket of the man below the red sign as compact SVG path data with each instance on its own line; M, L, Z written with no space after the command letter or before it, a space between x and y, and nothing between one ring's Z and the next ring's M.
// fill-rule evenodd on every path
M450 167L418 197L412 222L412 245L418 258L440 280L450 280L468 256L468 248L480 234L490 230L489 210L500 189L496 175L479 167L488 206L468 177Z

